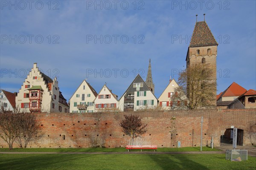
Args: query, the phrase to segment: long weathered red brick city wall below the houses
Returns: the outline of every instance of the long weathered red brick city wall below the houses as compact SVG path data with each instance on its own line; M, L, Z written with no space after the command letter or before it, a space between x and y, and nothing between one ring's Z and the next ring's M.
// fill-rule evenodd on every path
M170 111L119 113L40 113L41 134L28 147L124 147L130 137L119 126L124 114L137 114L147 123L147 132L134 144L158 147L200 146L201 116L203 145L213 136L215 146L231 126L244 130L244 145L256 144L256 110ZM8 145L0 141L0 147ZM14 144L14 147L18 147Z

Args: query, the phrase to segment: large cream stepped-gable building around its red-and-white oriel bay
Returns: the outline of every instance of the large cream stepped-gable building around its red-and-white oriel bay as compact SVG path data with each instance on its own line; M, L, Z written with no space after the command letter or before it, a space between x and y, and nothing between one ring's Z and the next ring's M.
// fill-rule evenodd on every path
M64 99L63 103L59 102L60 91L57 78L55 77L55 79L52 80L50 77L41 73L37 67L37 63L34 63L33 68L29 72L29 75L23 82L23 85L16 96L15 101L17 107L26 112L31 111L31 104L29 103L32 94L29 93L28 89L33 88L34 86L41 88L41 101L37 103L38 108L40 108L39 112L68 112L66 100ZM61 107L61 111L59 111L59 106Z

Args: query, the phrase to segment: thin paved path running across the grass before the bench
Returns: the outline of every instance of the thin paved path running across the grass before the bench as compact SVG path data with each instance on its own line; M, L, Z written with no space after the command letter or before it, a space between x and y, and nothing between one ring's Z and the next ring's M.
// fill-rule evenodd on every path
M223 151L191 152L0 152L0 154L219 154Z

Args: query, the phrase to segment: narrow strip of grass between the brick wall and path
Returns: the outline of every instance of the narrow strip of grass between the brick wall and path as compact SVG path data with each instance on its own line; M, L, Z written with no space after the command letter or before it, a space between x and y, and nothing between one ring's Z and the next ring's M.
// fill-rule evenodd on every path
M211 149L210 147L203 147L203 151L219 151L218 149ZM200 151L200 147L181 147L181 148L169 148L160 147L157 152L184 152L184 151ZM124 147L117 148L14 148L9 150L8 148L0 148L0 152L127 152ZM132 152L140 152L140 150L132 150Z

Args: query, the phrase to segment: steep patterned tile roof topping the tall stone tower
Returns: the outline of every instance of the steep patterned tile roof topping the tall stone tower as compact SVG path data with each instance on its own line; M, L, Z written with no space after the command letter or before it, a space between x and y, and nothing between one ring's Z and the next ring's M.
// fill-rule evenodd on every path
M205 21L196 22L189 47L218 45Z

